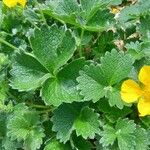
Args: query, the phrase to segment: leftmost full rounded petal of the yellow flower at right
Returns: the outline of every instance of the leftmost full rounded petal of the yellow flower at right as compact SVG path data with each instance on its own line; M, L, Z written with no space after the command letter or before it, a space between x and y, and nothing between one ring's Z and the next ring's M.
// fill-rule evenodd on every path
M133 80L126 80L121 86L121 98L126 103L135 102L142 95L139 85Z

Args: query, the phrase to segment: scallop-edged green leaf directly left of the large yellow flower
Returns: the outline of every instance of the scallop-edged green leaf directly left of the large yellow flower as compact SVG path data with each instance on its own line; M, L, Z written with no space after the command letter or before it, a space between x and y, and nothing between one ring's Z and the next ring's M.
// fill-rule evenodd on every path
M100 98L106 96L108 90L119 83L122 79L126 78L132 69L133 60L130 55L123 52L112 50L106 52L105 56L101 58L101 65L86 66L80 72L77 78L79 83L78 89L81 90L80 94L84 96L85 101L92 100L98 101ZM119 92L115 89L109 93L111 106L117 105L122 108L122 102ZM117 101L116 101L117 98Z

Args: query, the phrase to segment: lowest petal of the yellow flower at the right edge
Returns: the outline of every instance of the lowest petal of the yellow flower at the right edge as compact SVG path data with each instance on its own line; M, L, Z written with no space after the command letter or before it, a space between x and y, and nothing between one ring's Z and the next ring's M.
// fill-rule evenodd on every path
M143 98L139 99L138 111L140 113L140 116L150 115L150 99L149 100Z

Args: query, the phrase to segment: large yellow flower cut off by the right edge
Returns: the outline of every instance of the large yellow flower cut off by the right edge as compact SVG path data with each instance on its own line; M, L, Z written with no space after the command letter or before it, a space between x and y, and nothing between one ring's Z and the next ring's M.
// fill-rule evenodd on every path
M140 116L150 115L150 66L143 66L139 73L139 81L129 79L121 86L121 97L126 103L138 101Z

